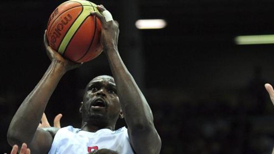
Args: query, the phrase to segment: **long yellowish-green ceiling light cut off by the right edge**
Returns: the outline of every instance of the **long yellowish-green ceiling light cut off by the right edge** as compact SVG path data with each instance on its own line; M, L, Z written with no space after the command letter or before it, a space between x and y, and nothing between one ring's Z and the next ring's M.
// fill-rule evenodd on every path
M274 35L248 35L235 37L235 43L243 44L274 44Z

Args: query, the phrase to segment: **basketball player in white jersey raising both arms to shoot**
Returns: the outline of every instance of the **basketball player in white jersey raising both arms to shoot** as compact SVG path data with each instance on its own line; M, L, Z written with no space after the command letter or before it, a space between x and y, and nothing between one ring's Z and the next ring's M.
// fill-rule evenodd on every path
M160 152L161 139L154 127L150 107L118 52L118 25L103 6L97 8L101 13L91 14L102 23L101 44L113 77L95 77L87 84L80 107L81 129L72 126L37 129L61 77L81 65L64 59L48 45L44 36L51 64L10 123L7 139L11 146L26 142L32 153L43 154L84 154L102 148L119 154ZM117 119L123 117L128 128L115 131Z

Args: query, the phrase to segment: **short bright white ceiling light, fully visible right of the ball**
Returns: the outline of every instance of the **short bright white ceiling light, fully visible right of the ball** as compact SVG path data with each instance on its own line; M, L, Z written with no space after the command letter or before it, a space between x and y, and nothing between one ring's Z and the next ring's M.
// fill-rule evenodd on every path
M167 26L163 19L140 19L135 22L138 29L162 29Z

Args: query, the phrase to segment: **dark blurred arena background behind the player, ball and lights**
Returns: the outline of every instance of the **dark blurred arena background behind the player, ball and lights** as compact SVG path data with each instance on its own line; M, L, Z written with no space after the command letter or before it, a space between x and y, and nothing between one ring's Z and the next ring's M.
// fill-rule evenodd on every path
M9 123L50 64L43 34L62 2L1 2L0 153L11 151ZM234 37L274 34L273 0L93 2L120 23L119 52L153 111L161 153L271 153L274 108L264 83L274 81L274 45L236 45ZM135 28L155 18L167 27ZM104 54L67 72L45 110L50 123L62 113L61 126L80 127L83 88L102 74L111 75Z

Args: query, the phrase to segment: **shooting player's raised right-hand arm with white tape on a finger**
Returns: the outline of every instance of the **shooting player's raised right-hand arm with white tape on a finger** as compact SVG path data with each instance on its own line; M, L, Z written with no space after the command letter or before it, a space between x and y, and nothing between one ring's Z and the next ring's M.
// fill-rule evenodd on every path
M150 107L118 52L118 25L102 5L97 8L102 14L91 14L102 23L101 43L116 83L132 147L137 153L159 153L161 139L154 127Z

